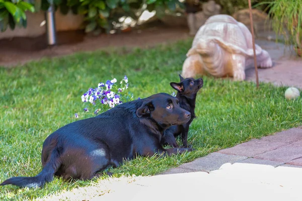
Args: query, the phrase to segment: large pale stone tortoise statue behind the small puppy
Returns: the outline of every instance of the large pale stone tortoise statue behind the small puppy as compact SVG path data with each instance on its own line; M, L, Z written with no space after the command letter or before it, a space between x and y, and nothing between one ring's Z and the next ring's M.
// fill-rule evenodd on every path
M257 64L272 67L267 51L256 46ZM183 64L182 76L194 77L206 72L215 76L232 76L245 80L245 70L254 65L252 34L229 15L214 15L196 33Z

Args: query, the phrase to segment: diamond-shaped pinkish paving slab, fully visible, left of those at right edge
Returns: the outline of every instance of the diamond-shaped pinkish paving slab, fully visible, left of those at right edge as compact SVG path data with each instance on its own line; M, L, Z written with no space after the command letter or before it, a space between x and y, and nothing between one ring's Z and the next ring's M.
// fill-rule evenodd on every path
M253 157L259 154L262 154L266 151L274 150L278 147L287 145L286 142L268 142L265 140L254 139L249 142L245 142L235 147L228 149L219 150L219 153L223 154L232 154L239 156Z

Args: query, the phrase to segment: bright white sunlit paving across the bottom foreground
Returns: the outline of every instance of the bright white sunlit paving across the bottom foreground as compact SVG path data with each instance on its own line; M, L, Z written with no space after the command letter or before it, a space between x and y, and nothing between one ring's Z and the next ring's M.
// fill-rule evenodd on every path
M301 200L302 168L224 164L219 170L109 178L43 200Z

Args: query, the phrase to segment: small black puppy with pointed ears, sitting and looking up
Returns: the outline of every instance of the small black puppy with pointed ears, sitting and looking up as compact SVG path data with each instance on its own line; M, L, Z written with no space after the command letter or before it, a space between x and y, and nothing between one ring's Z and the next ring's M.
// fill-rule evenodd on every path
M195 100L198 90L203 86L202 78L186 78L184 79L181 75L180 82L175 83L171 82L170 85L177 90L176 97L179 100L179 106L186 111L191 113L190 120L183 125L172 126L165 131L165 134L162 138L162 145L170 145L173 147L179 147L176 143L175 138L181 134L182 142L184 147L188 147L188 131L189 126L195 116Z

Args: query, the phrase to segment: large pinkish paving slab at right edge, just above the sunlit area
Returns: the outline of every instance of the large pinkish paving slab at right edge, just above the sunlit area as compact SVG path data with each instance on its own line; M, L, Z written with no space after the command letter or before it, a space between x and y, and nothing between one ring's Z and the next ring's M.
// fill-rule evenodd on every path
M275 150L267 151L254 158L287 163L299 157L302 157L302 141L293 142Z

